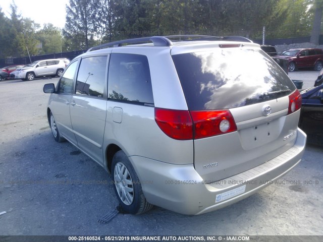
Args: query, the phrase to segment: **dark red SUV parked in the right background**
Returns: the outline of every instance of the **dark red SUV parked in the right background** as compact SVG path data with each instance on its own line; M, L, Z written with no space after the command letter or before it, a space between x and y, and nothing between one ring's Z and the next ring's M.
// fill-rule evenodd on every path
M288 59L289 72L293 72L297 68L304 67L313 67L315 71L319 71L323 67L322 49L289 49L275 57Z

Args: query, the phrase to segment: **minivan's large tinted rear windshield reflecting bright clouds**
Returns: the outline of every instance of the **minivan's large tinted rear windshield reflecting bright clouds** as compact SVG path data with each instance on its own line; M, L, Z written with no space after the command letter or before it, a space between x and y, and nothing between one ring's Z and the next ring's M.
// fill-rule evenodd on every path
M286 96L295 86L260 49L172 55L190 110L241 107Z

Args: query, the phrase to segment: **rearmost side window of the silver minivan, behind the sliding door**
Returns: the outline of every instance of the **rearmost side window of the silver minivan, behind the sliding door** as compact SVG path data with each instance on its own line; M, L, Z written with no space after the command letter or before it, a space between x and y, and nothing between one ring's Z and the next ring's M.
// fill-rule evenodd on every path
M112 53L107 89L110 99L153 104L147 56Z

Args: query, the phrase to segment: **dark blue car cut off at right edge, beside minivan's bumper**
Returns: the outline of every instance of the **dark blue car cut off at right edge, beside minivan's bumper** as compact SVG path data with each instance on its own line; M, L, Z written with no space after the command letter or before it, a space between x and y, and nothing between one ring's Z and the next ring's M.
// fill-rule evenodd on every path
M323 85L301 91L302 107L299 127L307 134L307 142L323 145Z

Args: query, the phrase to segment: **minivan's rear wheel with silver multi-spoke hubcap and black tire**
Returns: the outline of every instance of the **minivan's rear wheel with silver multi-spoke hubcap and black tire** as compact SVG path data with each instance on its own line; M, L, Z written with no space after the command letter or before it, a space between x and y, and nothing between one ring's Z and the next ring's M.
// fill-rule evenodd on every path
M153 207L146 201L137 173L122 150L112 159L112 174L117 198L126 212L141 214Z

